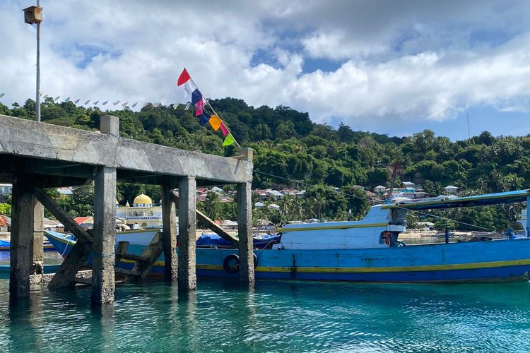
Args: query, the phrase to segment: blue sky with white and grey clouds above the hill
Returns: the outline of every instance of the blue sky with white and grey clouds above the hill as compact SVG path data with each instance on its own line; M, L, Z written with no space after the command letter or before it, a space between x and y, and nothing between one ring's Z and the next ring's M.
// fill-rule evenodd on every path
M0 99L34 97L35 26L0 1ZM42 92L81 102L207 97L285 105L313 121L452 140L530 128L524 1L42 0ZM80 15L81 14L81 15ZM28 49L29 48L29 49ZM139 104L140 106L141 104ZM117 107L120 107L118 104Z

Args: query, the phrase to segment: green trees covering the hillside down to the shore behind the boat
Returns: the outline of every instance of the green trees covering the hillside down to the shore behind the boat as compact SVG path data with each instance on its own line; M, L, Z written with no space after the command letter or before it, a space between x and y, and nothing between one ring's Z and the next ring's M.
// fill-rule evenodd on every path
M254 181L252 189L293 188L307 190L302 198L269 199L279 209L254 208L254 221L267 219L275 225L293 220L346 220L363 217L370 207L366 191L375 186L389 186L391 169L399 160L397 186L413 181L423 186L430 196L443 193L443 187L454 185L462 194L494 193L524 189L530 184L530 135L498 136L483 131L467 140L451 141L435 136L430 130L397 137L365 131L353 131L341 124L338 128L311 121L307 112L289 107L251 107L243 100L224 98L211 100L223 121L241 145L254 149ZM97 131L100 116L112 114L120 119L120 135L184 150L199 150L214 155L235 155L233 145L223 147L223 140L210 128L201 126L194 108L148 105L139 112L129 108L102 111L99 107L80 107L73 102L42 102L42 121L73 128ZM0 114L22 119L35 119L35 102L7 107L0 103ZM363 186L364 189L360 189ZM225 192L233 186L224 186ZM69 198L60 198L61 206L71 215L92 215L93 189L77 188ZM150 185L119 183L118 201L124 205L140 193L159 200L160 188ZM10 203L4 200L4 205ZM262 201L253 196L253 204ZM1 205L1 204L0 204ZM4 206L7 210L7 206ZM235 203L220 202L213 193L198 203L209 217L235 220ZM458 222L418 213L408 213L409 227L418 222L435 223L435 229L458 231L497 230L517 227L523 203L490 207L444 210L435 216L477 225L478 229Z

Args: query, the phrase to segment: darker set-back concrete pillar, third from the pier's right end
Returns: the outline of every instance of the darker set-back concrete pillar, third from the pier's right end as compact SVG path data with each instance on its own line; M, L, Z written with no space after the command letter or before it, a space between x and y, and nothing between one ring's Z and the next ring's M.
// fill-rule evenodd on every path
M163 249L165 261L165 280L177 282L177 215L173 201L173 189L178 185L168 181L162 186L162 221L163 221Z

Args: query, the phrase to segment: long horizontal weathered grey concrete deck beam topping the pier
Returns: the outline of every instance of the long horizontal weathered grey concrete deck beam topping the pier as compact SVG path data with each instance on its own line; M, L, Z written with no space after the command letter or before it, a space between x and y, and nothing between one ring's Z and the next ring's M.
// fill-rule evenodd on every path
M242 183L252 162L0 115L0 154Z

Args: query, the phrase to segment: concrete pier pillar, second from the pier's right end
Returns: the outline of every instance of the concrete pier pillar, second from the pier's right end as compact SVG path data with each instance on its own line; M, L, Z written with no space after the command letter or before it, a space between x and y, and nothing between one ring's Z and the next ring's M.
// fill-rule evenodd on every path
M183 177L179 181L179 265L178 283L180 291L197 287L195 262L195 200L194 177Z

